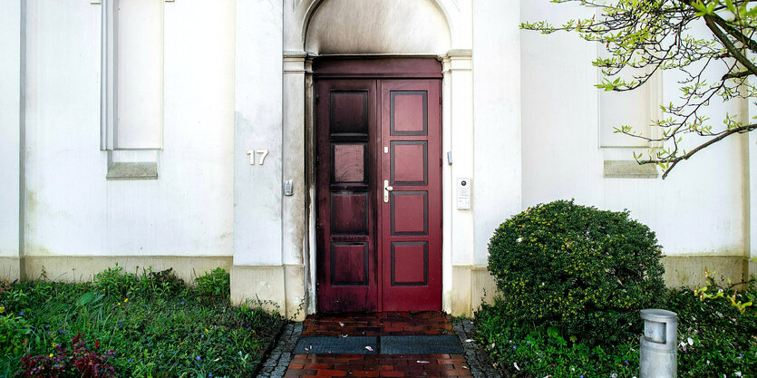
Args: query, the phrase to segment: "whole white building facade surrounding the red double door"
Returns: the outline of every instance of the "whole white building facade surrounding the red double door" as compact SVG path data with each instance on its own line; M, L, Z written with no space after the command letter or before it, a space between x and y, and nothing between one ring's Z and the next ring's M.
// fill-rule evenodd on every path
M699 282L704 267L743 275L757 256L754 135L717 143L664 181L606 177L606 161L633 160L635 148L601 124L628 102L600 104L597 46L519 30L581 8L153 0L131 4L151 11L130 21L115 0L99 3L0 3L0 54L10 58L0 60L0 275L88 279L118 262L191 278L220 266L235 300L292 317L315 311L310 67L325 55L442 61L442 151L453 160L442 167L447 312L470 314L492 294L494 228L554 199L628 208L655 230L669 285ZM130 39L131 22L152 32ZM654 117L676 88L674 74L657 78L638 111ZM746 102L711 111L715 122L726 111L757 115ZM455 207L457 178L472 181L470 210Z

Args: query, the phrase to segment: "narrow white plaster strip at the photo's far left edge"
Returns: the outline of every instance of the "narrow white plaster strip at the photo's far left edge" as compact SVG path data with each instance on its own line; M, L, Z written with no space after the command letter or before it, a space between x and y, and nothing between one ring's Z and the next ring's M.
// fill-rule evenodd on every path
M18 257L20 4L0 2L0 257Z

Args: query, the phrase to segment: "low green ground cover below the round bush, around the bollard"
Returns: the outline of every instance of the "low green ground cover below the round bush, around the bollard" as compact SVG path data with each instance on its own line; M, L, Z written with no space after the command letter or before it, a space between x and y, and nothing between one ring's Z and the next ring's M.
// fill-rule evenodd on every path
M701 293L688 289L665 294L663 308L678 315L679 377L752 377L757 373L757 313L752 307L742 313L727 296L701 300ZM734 299L746 302L755 297L752 283ZM498 307L497 303L485 305L474 322L480 344L503 376L638 376L639 334L628 334L616 344L585 344L564 337L555 327L513 322Z

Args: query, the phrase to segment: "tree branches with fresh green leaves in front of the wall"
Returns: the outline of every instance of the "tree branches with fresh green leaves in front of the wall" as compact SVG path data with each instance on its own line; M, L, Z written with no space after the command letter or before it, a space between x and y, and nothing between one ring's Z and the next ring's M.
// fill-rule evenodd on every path
M757 129L757 122L726 114L723 128L713 129L705 108L713 101L757 99L753 81L757 77L757 1L751 0L551 0L552 3L577 3L595 7L597 15L578 18L554 26L547 21L523 23L521 28L551 34L572 32L587 41L602 44L593 64L601 69L603 80L597 87L605 91L633 91L660 71L684 73L680 102L661 105L663 116L651 121L659 135L635 131L621 125L616 132L641 138L651 145L649 154L635 154L640 164L654 163L663 179L682 160L712 146L728 136ZM711 34L697 37L694 28L704 25ZM701 27L701 26L700 26ZM602 56L604 55L604 56ZM607 56L607 57L605 57ZM720 68L718 68L720 66ZM719 80L708 82L706 73L725 72ZM631 78L626 80L624 78ZM752 81L751 81L751 80ZM704 137L694 148L684 150L685 136Z

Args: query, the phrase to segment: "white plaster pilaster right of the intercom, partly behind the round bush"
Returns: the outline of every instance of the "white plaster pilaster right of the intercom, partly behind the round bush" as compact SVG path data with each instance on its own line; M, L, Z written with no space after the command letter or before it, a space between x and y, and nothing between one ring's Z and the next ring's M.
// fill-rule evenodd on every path
M473 4L474 265L494 228L520 211L519 4Z

